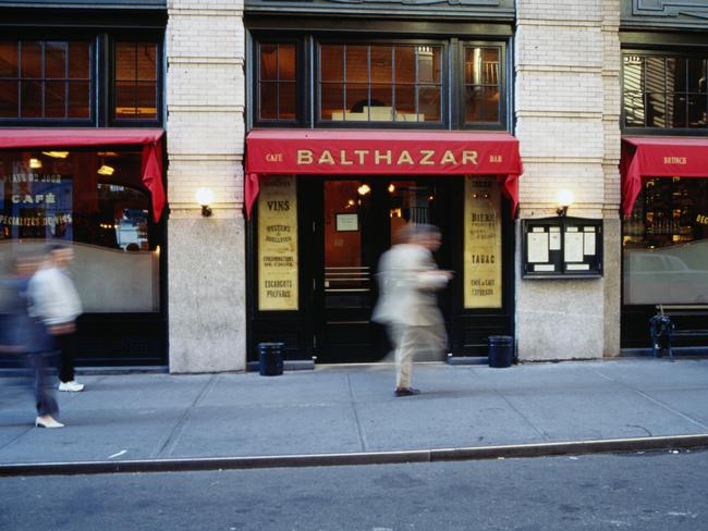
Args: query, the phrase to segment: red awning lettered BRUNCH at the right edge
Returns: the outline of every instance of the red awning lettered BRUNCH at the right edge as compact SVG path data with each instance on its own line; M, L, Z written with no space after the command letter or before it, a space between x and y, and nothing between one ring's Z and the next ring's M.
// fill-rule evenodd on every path
M708 138L623 137L622 211L630 215L647 177L708 177Z

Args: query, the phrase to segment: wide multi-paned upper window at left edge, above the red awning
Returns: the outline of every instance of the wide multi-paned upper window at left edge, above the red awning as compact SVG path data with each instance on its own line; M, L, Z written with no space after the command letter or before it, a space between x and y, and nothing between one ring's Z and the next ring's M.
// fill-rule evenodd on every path
M0 119L89 120L91 47L0 41Z

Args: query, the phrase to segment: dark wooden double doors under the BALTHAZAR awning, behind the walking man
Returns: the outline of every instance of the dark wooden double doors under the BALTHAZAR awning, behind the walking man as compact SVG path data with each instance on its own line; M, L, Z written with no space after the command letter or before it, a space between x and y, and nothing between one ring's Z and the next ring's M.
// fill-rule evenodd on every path
M324 178L321 209L313 212L314 353L318 362L376 361L390 351L382 326L370 321L378 298L377 267L406 223L444 229L450 186L435 178ZM450 248L436 254L451 269ZM440 294L449 319L449 293Z

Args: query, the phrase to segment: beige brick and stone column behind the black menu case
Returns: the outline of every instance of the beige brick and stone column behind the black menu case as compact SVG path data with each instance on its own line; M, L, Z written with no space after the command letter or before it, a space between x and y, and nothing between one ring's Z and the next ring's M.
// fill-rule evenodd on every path
M517 0L515 115L524 175L520 218L605 219L605 276L522 280L516 338L522 361L588 359L619 349L619 0ZM521 243L521 231L517 230Z

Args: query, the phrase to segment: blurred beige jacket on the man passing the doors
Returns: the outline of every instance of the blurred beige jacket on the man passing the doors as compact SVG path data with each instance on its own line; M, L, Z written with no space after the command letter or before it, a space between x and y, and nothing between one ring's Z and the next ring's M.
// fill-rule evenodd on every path
M428 249L401 244L381 256L379 300L371 320L381 324L429 326L443 322L436 292L448 283Z

